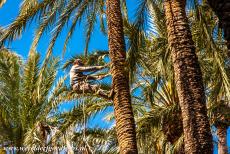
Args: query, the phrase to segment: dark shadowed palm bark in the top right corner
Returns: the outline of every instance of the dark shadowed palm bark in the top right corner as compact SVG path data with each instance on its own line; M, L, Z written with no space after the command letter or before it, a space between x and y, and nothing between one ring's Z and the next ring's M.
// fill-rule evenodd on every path
M228 55L230 57L230 1L208 0L208 3L220 20L220 26L224 31L224 38L227 41Z

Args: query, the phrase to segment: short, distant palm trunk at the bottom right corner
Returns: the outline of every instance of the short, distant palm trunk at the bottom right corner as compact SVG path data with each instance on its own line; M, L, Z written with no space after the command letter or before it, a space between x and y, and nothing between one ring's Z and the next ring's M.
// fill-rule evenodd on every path
M227 126L218 125L217 136L218 136L218 154L228 154L227 147Z

